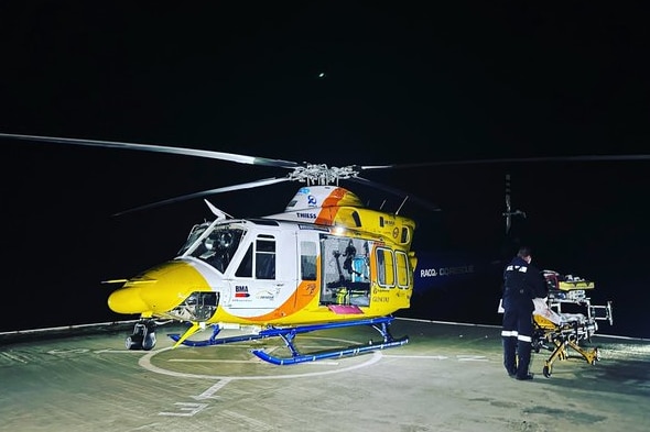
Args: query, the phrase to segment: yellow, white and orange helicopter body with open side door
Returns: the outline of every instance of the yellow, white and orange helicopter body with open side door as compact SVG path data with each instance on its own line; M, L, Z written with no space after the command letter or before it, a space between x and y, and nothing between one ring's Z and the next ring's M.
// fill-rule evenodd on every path
M302 188L296 198L284 213L196 225L174 259L117 289L110 309L143 319L266 326L409 308L416 264L412 220L362 208L342 188ZM303 198L321 206L304 207Z

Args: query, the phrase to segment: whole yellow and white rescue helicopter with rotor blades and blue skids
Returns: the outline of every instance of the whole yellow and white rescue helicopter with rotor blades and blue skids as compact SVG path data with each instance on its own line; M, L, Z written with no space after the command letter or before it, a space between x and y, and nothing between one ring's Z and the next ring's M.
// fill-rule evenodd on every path
M484 164L545 160L649 159L648 155L503 158L489 160L434 162L404 165L329 167L206 149L167 147L112 141L0 133L0 137L167 153L263 165L289 169L289 175L231 185L140 206L131 211L204 198L227 191L263 187L285 181L304 184L281 213L237 219L204 198L214 219L195 224L177 254L127 279L105 280L117 288L108 307L123 315L138 315L128 350L150 351L156 329L165 322L188 325L183 334L170 335L174 346L214 346L241 341L280 337L290 355L263 350L252 354L275 365L351 356L404 345L408 336L394 337L390 324L394 313L411 308L414 272L419 256L413 251L416 223L394 211L365 206L342 181L377 187L410 199L429 210L436 206L398 189L360 177L364 170L409 168L447 164ZM506 197L507 231L512 217ZM345 348L302 353L295 337L313 331L369 325L380 334ZM207 329L203 340L193 336ZM220 336L225 329L250 329L250 334Z

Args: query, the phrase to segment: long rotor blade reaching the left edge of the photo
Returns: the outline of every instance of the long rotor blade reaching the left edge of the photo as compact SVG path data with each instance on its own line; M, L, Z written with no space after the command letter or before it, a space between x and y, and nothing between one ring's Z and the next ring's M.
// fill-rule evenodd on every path
M37 135L19 135L12 133L0 133L0 137L25 140L25 141L39 141L43 143L57 143L57 144L69 144L69 145L84 145L88 147L109 147L109 148L123 148L123 149L136 149L141 152L152 153L171 153L184 156L197 156L210 159L221 159L236 162L238 164L248 165L266 165L274 166L280 168L295 168L301 166L296 162L282 160L282 159L270 159L267 157L256 157L239 155L236 153L224 153L214 152L208 149L195 149L184 147L169 147L164 145L152 145L152 144L136 144L136 143L122 143L117 141L99 141L99 140L79 140L79 139L66 139L57 136L37 136Z

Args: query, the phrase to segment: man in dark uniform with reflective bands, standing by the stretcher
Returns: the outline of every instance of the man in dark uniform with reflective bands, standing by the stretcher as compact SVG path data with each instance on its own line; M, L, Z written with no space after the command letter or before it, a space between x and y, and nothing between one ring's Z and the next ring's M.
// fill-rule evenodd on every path
M540 270L530 264L530 247L519 248L503 270L503 366L517 379L532 379L529 373L532 348L533 298L548 295Z

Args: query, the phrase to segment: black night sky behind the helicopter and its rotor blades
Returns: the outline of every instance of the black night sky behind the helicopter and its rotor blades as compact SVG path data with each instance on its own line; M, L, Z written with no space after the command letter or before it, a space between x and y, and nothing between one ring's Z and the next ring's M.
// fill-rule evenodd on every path
M237 3L0 3L0 132L336 166L650 153L647 10ZM111 214L286 174L12 140L0 152L0 331L119 318L100 281L173 257L210 218L201 199ZM420 225L420 250L499 255L510 174L513 209L528 214L517 233L535 264L596 280L619 333L650 337L649 164L432 165L365 177L442 208L402 210ZM210 200L236 217L270 214L297 186ZM370 203L388 198L350 188Z

